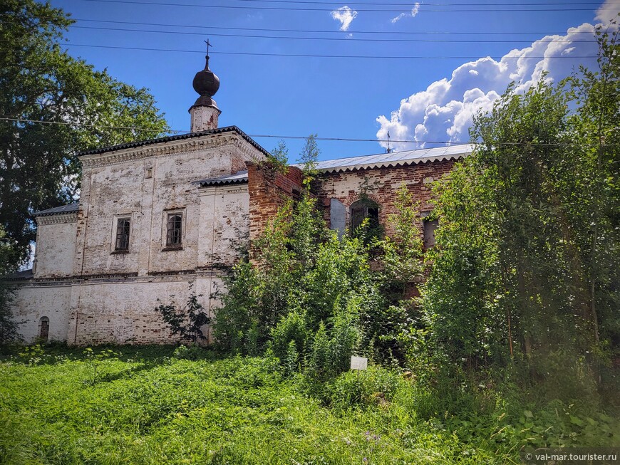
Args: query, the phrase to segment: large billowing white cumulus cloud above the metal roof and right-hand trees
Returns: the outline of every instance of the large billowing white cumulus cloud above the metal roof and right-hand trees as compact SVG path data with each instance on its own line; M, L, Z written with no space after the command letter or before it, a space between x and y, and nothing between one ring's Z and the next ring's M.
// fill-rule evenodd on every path
M579 65L594 69L597 49L594 26L584 23L569 28L566 35L546 36L526 48L515 48L499 60L486 57L464 63L450 78L403 98L388 117L379 116L377 137L387 139L390 132L392 140L418 141L415 147L392 142L396 150L433 147L428 143L432 141L467 142L472 116L490 110L512 81L517 92L524 92L545 72L547 80L557 81ZM553 58L558 56L562 58Z

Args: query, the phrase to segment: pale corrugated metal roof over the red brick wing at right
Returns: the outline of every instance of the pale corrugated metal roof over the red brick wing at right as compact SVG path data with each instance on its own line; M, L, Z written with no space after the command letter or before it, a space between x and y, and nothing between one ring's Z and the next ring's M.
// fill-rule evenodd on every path
M337 158L323 160L316 164L319 172L339 172L353 169L369 169L382 167L398 167L407 164L437 162L453 160L469 155L474 146L471 144L450 145L448 147L434 147L431 149L404 150L403 152L380 153L364 155L362 157ZM302 167L301 164L295 164Z

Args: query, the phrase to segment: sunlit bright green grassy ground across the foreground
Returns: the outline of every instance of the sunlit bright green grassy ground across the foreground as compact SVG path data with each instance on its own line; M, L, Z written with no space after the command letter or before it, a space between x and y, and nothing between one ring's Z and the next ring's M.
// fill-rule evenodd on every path
M317 382L274 359L173 350L5 355L0 463L518 464L528 446L619 444L614 414L585 404L423 389L377 367Z

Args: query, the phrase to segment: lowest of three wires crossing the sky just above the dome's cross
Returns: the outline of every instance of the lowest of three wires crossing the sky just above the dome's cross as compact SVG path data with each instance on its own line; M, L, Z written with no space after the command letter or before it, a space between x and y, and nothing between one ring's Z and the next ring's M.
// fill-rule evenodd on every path
M145 47L123 47L123 46L103 46L92 45L87 43L65 43L66 46L73 47L90 47L90 48L111 48L118 50L140 50L153 52L174 52L174 53L205 53L204 50L173 50L170 48L145 48ZM480 56L386 56L386 55L319 55L306 53L255 53L255 52L222 52L211 51L211 54L218 55L239 55L239 56L284 56L294 58L371 58L371 59L388 59L388 60L478 60ZM489 58L497 58L490 56ZM525 58L535 58L542 60L543 58L596 58L596 55L589 56L572 56L572 55L554 55L554 56L502 56L502 59L521 60Z

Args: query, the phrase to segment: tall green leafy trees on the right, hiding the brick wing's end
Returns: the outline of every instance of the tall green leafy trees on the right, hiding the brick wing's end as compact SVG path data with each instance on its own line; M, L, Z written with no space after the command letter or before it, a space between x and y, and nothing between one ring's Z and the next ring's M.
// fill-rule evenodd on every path
M600 38L572 92L511 87L475 118L475 152L440 187L423 305L450 360L562 371L617 346L618 49Z

